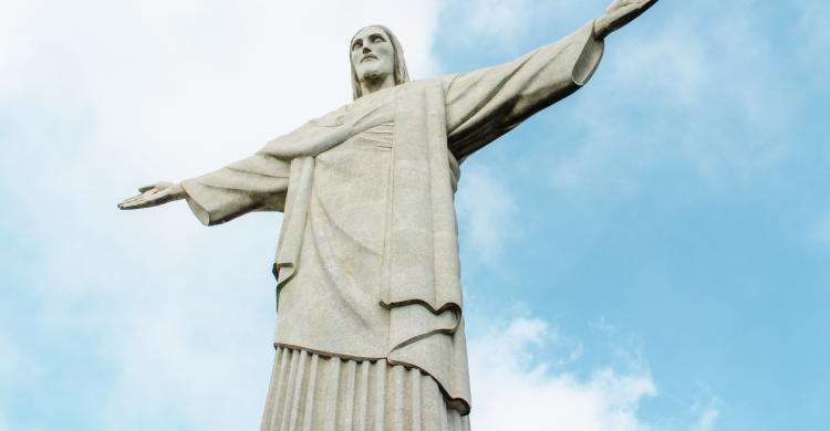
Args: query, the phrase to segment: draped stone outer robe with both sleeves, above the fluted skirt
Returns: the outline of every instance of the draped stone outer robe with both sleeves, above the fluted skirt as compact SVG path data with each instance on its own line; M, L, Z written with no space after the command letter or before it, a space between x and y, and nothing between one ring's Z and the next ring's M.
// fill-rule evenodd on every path
M512 62L385 88L183 181L206 225L283 211L274 346L387 360L467 414L459 162L585 84L593 23Z

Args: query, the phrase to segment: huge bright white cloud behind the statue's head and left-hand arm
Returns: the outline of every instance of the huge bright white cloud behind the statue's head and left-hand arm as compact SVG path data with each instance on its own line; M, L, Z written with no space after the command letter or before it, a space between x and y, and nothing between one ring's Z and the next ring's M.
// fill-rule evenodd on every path
M248 156L350 102L347 42L363 25L387 24L412 75L434 74L436 14L435 1L3 9L0 217L38 251L33 285L20 288L37 294L40 329L89 344L114 379L102 377L106 398L79 417L108 430L257 427L280 217L204 229L180 203L115 203L142 183ZM35 359L73 372L61 358Z

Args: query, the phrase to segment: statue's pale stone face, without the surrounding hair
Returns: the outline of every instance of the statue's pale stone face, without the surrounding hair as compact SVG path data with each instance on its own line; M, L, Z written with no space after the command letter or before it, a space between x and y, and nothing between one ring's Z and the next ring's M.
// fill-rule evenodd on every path
M395 72L395 51L382 29L367 27L352 39L352 64L357 80L383 80Z

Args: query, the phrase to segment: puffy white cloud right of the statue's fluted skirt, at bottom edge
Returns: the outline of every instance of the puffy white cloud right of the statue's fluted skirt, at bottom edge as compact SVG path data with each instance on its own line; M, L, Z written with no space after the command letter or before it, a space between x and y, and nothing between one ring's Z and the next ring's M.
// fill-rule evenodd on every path
M556 372L559 359L536 351L556 343L551 327L520 317L470 340L473 425L477 431L649 430L637 417L656 385L645 369L603 367L589 378Z

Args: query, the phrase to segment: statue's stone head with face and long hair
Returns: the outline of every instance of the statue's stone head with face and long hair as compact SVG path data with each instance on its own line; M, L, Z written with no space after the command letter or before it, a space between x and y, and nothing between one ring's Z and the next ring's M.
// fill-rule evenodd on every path
M384 25L369 25L357 31L349 45L349 59L355 101L363 95L361 81L383 80L391 75L395 85L409 82L404 49L395 34Z

